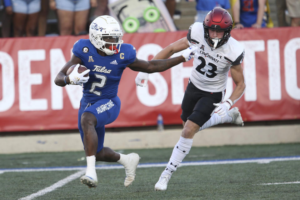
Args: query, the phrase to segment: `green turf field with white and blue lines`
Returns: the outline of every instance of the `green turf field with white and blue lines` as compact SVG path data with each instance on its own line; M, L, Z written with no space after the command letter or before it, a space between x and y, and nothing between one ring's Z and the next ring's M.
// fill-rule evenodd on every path
M141 157L128 188L125 170L102 162L96 163L98 187L82 185L83 151L0 154L0 199L300 199L300 143L193 147L163 192L154 191L154 185L171 148L119 152Z

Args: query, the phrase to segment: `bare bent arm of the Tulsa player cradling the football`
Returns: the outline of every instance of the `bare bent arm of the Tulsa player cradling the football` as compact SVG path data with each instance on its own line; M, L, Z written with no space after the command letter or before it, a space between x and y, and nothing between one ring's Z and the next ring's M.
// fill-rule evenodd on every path
M70 80L68 78L66 78L66 83L65 83L65 77L66 77L66 73L68 71L68 69L72 66L72 65L76 65L76 64L81 64L81 59L76 57L74 54L72 56L72 58L63 66L63 68L60 70L60 72L57 74L54 82L56 85L64 87L67 84L70 84Z

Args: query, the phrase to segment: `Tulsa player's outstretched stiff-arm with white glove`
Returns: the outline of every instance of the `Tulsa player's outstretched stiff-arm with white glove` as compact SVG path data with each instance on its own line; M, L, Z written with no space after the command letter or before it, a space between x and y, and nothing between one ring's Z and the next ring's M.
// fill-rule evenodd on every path
M196 52L196 47L188 47L183 51L181 56L177 56L175 58L164 59L164 60L141 60L136 58L135 61L128 65L130 69L133 71L146 72L146 73L154 73L154 72L163 72L179 63L189 61L194 57Z

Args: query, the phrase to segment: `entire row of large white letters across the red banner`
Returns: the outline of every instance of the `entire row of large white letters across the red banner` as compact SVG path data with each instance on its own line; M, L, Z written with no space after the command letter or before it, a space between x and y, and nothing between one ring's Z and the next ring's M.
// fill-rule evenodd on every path
M245 71L245 82L247 89L244 95L246 102L257 100L257 80L256 80L256 52L265 51L264 40L240 41L245 46L245 59L243 67ZM300 100L300 88L297 82L297 51L300 49L300 37L292 38L284 46L284 61L280 61L279 40L266 40L267 42L267 59L268 59L268 87L269 99L277 101L282 99L281 91L281 63L284 63L285 88L287 94L292 99ZM148 60L149 56L156 55L162 47L158 44L145 44L138 49L137 57ZM41 73L31 73L31 61L44 61L46 53L44 49L35 50L19 50L18 51L18 84L19 84L19 109L20 111L42 111L47 110L47 98L33 99L32 85L42 84ZM71 50L72 55L72 50ZM173 55L172 57L175 57ZM260 58L262 59L262 58ZM55 85L54 78L66 63L62 49L50 49L50 74L51 74L51 108L53 110L63 109L63 88L66 89L68 99L74 109L79 108L80 99L82 97L82 87L66 86L59 87ZM12 108L15 102L15 83L14 80L14 63L12 57L5 52L0 52L0 69L2 70L2 79L0 91L0 112L7 111ZM47 66L47 63L46 65ZM282 65L283 66L283 65ZM264 66L261 66L264 67ZM183 63L171 68L171 96L172 104L180 105L183 99L185 78L190 76L190 66L183 67ZM44 68L41 69L45 70ZM46 69L47 70L47 69ZM298 73L299 74L299 73ZM266 75L267 76L267 75ZM168 83L160 73L149 75L149 82L155 88L155 94L150 94L148 88L137 87L137 97L145 106L159 106L164 103L168 97ZM48 83L43 83L48 84ZM234 83L228 77L225 99L227 99L233 91Z

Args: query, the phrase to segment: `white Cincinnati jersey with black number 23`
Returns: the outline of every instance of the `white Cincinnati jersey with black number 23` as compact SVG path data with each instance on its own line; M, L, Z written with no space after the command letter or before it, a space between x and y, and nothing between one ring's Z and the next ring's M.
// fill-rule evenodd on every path
M187 39L190 46L197 47L190 77L192 83L203 91L224 91L230 67L243 61L242 44L229 37L227 43L212 49L204 39L204 28L200 22L195 22L190 26Z

